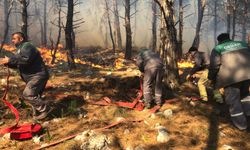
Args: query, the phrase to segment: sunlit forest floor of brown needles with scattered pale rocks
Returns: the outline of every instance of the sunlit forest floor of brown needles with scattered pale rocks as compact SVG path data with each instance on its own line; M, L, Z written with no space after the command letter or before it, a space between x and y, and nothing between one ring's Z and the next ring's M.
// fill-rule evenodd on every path
M200 150L200 149L250 149L250 134L239 131L231 125L224 105L213 100L208 103L192 102L189 96L198 96L197 87L183 83L175 93L165 91L165 99L173 96L177 102L165 104L159 112L172 110L173 114L164 117L161 113L148 115L148 110L137 111L117 106L90 104L103 97L112 100L129 101L136 97L139 89L139 71L132 61L122 59L123 54L114 55L111 50L90 49L77 52L77 58L84 63L77 64L77 70L68 71L67 63L58 62L50 67L50 79L44 93L45 99L55 103L50 117L40 122L45 130L40 135L40 143L34 139L25 141L0 139L0 149L30 150L39 148L64 137L87 130L105 127L121 118L142 119L138 122L123 122L99 134L112 139L110 149L127 150ZM4 91L6 69L1 69L1 95ZM20 102L24 83L16 71L11 71L8 99L14 105ZM171 97L169 97L171 95ZM0 104L1 120L4 128L14 124L15 117L3 103ZM29 107L20 107L21 121L32 122ZM221 113L218 113L220 110ZM146 116L146 117L145 117ZM148 117L147 117L148 116ZM157 142L157 126L164 126L169 135L168 142ZM47 149L80 149L81 142L75 139L64 141Z

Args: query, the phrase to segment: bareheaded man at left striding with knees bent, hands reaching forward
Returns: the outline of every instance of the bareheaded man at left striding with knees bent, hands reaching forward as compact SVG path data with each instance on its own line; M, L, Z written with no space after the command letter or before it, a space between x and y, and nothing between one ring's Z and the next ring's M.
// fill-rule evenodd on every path
M49 73L41 54L22 32L12 34L12 43L17 51L11 57L0 59L1 65L18 69L22 80L26 83L22 97L31 104L34 119L47 117L51 108L42 100L41 96L49 79Z

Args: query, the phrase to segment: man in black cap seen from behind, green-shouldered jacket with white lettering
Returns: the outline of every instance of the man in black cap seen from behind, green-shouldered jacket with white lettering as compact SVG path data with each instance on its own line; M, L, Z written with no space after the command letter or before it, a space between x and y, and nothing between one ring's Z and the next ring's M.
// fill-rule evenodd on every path
M250 116L250 49L247 43L230 40L228 33L217 37L211 52L208 79L215 88L224 88L225 102L233 124L247 128Z

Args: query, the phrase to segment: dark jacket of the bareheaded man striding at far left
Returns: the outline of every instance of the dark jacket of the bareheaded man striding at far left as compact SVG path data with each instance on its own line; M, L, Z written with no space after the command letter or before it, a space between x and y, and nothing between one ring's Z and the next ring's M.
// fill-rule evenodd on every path
M29 42L17 46L14 56L11 56L7 64L11 68L18 68L20 75L25 82L33 76L49 78L49 73L40 52Z

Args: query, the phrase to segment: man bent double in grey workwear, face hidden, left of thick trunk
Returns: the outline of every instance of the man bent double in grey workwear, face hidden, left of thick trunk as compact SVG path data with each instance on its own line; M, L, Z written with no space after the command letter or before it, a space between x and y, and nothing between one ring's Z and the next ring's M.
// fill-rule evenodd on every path
M163 63L159 55L150 49L142 49L135 59L139 70L143 73L143 97L146 108L151 108L153 102L162 106ZM155 101L152 97L155 83Z

